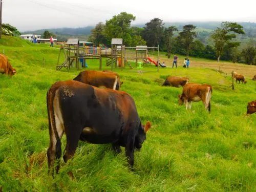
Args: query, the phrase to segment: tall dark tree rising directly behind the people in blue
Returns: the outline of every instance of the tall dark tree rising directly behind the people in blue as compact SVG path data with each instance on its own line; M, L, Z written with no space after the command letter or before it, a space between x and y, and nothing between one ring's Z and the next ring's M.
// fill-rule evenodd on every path
M191 48L191 44L194 38L197 37L197 33L194 31L195 29L196 29L196 26L194 25L185 25L183 26L183 30L179 33L179 38L181 40L181 43L186 49L187 58Z

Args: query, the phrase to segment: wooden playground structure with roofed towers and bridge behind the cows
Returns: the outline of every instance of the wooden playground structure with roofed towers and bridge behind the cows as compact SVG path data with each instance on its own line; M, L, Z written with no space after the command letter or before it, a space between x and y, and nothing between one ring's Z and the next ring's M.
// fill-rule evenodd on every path
M148 60L150 59L148 57L149 49L158 50L159 63L159 46L125 47L122 45L122 39L113 38L111 41L111 49L109 49L84 45L79 46L79 39L68 39L66 45L61 46L60 48L56 70L61 70L62 68L67 68L69 70L71 66L77 70L82 70L82 67L86 66L87 59L99 59L99 70L101 70L102 58L106 58L106 66L111 66L111 70L113 70L114 67L124 68L126 65L129 65L128 60L135 60L136 66L138 66L139 60L143 60L144 63L148 63ZM62 51L65 56L65 61L59 65L60 54ZM150 60L152 61L152 59ZM157 65L157 62L155 61L154 63L159 71L159 65Z

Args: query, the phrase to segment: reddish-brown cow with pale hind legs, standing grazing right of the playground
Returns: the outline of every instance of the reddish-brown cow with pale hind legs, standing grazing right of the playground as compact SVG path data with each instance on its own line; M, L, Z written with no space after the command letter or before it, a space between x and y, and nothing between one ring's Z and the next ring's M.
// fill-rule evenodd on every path
M212 87L209 84L187 83L183 87L182 94L179 95L179 105L185 103L191 109L192 101L203 101L205 109L210 112L210 99Z

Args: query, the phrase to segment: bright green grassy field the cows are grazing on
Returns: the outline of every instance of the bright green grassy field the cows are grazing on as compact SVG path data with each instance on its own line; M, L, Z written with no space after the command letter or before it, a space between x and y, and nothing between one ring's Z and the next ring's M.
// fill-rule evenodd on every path
M154 126L141 151L135 152L134 172L127 166L124 148L115 155L110 144L79 142L74 159L67 164L61 160L60 173L52 179L46 156L46 93L54 82L72 79L79 71L56 71L59 50L48 46L4 36L2 50L17 70L13 78L0 74L3 191L256 191L256 114L245 115L247 103L256 99L255 81L247 79L232 91L230 76L211 67L115 69L124 81L121 90L134 98L142 122L150 120ZM90 70L98 69L98 60L88 64ZM256 74L255 68L241 66ZM191 111L179 106L182 88L160 86L169 75L211 84L211 114L202 102L194 102ZM64 136L62 149L65 144ZM70 170L74 180L67 174Z

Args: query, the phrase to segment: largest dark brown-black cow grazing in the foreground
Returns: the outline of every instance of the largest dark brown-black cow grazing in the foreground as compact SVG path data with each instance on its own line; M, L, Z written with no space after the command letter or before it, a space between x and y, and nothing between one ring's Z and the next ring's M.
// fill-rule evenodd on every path
M100 89L82 82L58 81L47 92L50 145L47 151L49 173L61 156L61 137L67 144L63 159L74 156L79 140L94 144L112 143L116 153L125 147L133 167L134 151L140 150L151 127L142 125L133 98L123 91ZM57 161L58 162L58 161ZM56 166L58 173L59 165Z

